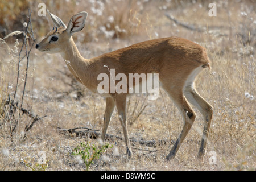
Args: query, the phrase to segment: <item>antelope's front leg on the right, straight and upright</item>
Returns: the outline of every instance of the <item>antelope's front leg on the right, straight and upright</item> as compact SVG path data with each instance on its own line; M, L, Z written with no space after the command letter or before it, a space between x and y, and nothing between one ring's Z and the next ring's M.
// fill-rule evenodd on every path
M130 147L130 140L128 136L127 123L126 123L126 94L117 94L115 97L115 103L117 105L117 111L119 115L119 121L121 122L123 135L125 137L126 153L128 159L131 159L133 155Z

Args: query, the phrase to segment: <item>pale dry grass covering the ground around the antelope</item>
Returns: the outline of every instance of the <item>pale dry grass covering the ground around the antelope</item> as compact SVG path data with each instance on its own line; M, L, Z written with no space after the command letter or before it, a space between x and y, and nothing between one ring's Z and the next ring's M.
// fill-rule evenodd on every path
M255 170L256 7L255 1L245 2L219 1L216 17L208 16L210 2L207 1L189 4L178 1L88 1L79 5L73 1L67 1L65 5L55 1L51 4L52 13L65 23L73 14L88 11L85 29L74 35L84 57L94 57L142 40L181 36L207 47L212 60L212 70L201 73L197 80L197 90L214 107L207 154L203 161L196 159L203 130L203 118L196 110L196 121L174 160L164 160L171 149L170 142L156 147L134 143L133 159L127 163L124 142L110 140L113 148L104 154L109 157L108 161L98 160L90 170ZM73 8L68 9L68 5ZM34 7L37 3L30 2L30 6L36 12ZM205 31L180 27L168 20L165 12L180 22L205 27ZM40 39L49 24L46 18L38 17L37 13L34 15L35 24L36 21L45 23L41 24L44 26L42 30L40 27L34 30ZM0 47L0 101L8 94L12 96L16 86L16 50L19 46L13 43L9 48L6 44ZM26 65L22 64L24 74ZM0 169L30 170L24 160L35 166L38 152L45 151L47 170L84 170L85 166L77 162L71 151L85 139L61 135L57 127L101 130L104 98L74 82L60 55L46 55L33 50L29 76L23 105L35 114L47 117L38 121L24 140L24 127L31 119L23 115L11 139L10 124L14 121L6 121L3 105L0 105ZM76 89L84 95L79 100L77 94L80 93ZM160 93L155 101L144 102L144 96L129 98L128 122L133 121L134 115L147 105L129 125L130 138L176 140L183 126L181 115L166 93L163 90ZM21 94L18 93L17 100ZM116 111L108 134L123 136ZM97 144L97 140L91 142ZM210 151L217 154L216 164L209 163Z

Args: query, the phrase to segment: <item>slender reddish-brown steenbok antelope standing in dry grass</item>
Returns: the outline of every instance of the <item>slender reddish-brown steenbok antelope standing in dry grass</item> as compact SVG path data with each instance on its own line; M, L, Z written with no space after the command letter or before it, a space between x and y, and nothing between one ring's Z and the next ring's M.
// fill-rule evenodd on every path
M80 55L72 39L75 32L84 28L87 13L81 12L74 15L68 26L56 15L51 13L49 15L51 15L55 27L46 35L46 38L36 44L36 49L46 53L61 53L69 70L77 80L95 93L99 93L97 89L97 85L100 83L98 75L106 73L112 77L109 69L114 69L115 74L123 73L126 76L130 73L158 73L159 84L175 103L184 121L179 138L171 148L167 159L175 157L195 121L195 111L188 102L197 107L204 117L203 137L198 154L199 158L203 157L207 146L213 107L196 92L194 80L204 68L210 68L210 61L205 48L182 38L161 38L137 43L88 60ZM118 82L115 81L116 84ZM129 85L126 85L126 88L130 89ZM110 90L111 88L107 89ZM115 106L117 106L125 137L126 152L130 159L132 152L126 124L127 93L109 92L103 94L106 97L106 109L101 139L104 141L110 118Z

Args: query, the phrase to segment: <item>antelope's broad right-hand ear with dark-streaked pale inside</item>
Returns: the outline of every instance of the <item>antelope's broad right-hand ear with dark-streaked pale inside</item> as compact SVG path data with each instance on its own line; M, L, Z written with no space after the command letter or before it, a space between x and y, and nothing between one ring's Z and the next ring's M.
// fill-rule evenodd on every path
M71 35L75 32L82 30L85 26L85 20L87 18L87 13L82 11L74 15L68 23L67 30Z

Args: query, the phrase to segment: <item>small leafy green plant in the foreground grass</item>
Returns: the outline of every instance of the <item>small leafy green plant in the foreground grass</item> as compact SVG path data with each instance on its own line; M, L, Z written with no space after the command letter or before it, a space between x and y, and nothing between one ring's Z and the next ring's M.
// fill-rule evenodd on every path
M94 159L98 159L100 154L109 148L110 144L105 143L101 147L94 144L90 145L89 142L81 142L72 152L72 155L80 155L86 165L86 171L89 171L90 164L93 164ZM110 146L112 147L112 146Z

